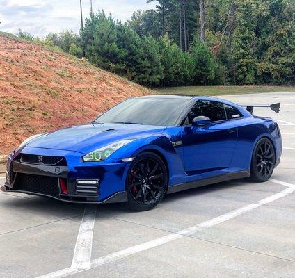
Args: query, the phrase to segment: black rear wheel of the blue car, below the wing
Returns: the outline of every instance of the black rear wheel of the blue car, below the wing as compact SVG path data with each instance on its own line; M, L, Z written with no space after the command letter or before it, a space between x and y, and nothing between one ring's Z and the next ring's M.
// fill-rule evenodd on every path
M271 141L267 138L262 138L257 142L253 152L251 176L253 181L263 182L268 181L275 168L276 153Z

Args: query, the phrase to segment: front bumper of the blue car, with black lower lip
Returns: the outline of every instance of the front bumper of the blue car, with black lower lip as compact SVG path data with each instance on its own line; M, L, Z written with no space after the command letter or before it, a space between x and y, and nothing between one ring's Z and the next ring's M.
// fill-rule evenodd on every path
M22 161L22 155L62 156L55 165ZM108 204L127 202L125 172L127 163L83 163L81 154L58 150L25 148L8 158L7 178L1 188L4 192L26 193L51 197L65 202ZM97 181L81 184L79 181Z

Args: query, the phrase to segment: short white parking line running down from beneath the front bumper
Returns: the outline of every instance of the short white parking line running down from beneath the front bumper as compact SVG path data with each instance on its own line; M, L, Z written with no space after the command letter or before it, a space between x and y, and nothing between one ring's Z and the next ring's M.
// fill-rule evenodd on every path
M93 206L85 206L76 246L74 247L72 269L87 269L90 267L93 229L97 208L95 208L94 212L93 209Z

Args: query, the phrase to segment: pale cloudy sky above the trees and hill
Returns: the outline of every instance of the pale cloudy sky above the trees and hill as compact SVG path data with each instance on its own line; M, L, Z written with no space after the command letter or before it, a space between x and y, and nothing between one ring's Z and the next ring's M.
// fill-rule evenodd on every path
M90 12L90 0L82 0L83 16ZM125 22L135 10L154 8L146 0L93 0L93 11L99 8ZM0 0L0 31L17 33L19 28L44 38L50 32L81 27L79 0Z

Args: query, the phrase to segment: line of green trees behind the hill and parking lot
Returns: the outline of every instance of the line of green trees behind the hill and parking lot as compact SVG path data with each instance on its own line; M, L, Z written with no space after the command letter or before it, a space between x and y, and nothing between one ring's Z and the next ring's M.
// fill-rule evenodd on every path
M125 23L92 12L79 35L44 42L148 86L295 83L294 0L156 2Z

